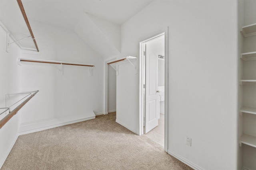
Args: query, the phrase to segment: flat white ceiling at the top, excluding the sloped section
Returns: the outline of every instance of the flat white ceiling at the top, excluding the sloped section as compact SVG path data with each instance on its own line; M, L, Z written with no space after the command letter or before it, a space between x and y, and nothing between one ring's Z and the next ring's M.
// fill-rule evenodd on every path
M122 25L153 0L22 0L28 20L74 29L83 12Z

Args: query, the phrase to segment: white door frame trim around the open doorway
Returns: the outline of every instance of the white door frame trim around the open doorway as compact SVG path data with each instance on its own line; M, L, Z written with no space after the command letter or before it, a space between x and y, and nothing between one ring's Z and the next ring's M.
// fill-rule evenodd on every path
M160 32L160 33L159 33ZM153 36L140 41L140 58L139 58L139 135L144 134L144 94L143 94L143 81L144 81L144 59L143 59L143 44L147 41L155 39L161 35L164 35L164 149L168 152L168 27L163 31L159 31Z

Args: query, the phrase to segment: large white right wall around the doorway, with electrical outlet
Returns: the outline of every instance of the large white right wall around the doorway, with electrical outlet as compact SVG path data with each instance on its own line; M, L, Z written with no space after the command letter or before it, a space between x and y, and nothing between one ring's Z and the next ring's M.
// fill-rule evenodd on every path
M237 169L236 5L157 0L122 25L119 58L138 57L139 41L169 27L168 152L195 169ZM116 119L138 133L139 77L133 69L119 66Z

